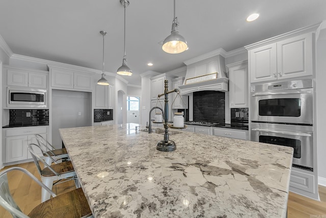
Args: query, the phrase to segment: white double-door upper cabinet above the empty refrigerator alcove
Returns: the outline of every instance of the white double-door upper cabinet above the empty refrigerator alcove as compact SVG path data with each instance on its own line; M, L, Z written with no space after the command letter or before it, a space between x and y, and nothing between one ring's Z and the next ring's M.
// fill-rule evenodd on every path
M60 89L92 90L93 76L68 69L50 68L51 86Z

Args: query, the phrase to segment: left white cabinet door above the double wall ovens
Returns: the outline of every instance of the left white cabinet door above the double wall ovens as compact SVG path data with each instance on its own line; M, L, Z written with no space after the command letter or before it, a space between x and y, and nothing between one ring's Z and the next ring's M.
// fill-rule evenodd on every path
M277 79L276 43L250 51L250 81L252 83Z

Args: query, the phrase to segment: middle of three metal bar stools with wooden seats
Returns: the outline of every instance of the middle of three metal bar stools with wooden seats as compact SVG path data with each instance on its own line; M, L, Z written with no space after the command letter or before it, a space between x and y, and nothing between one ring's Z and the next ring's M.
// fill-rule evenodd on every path
M75 181L76 188L80 187L78 178L76 176L76 172L74 171L71 161L64 161L61 163L57 163L56 161L54 161L55 164L49 165L40 156L38 156L35 153L33 147L35 149L36 148L40 149L43 153L47 153L47 152L45 152L38 144L30 143L28 145L29 151L33 157L36 168L38 169L38 172L41 175L41 180L46 187L52 190L53 182L58 181L55 183L55 185L57 185L69 180ZM39 161L41 161L44 164L43 169L41 168ZM49 199L50 199L50 193L46 191L44 188L42 188L41 202L47 201Z

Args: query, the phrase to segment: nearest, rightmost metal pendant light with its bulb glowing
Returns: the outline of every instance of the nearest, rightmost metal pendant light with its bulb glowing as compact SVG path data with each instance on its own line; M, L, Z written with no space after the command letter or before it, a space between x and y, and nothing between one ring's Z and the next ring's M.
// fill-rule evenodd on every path
M173 11L173 21L172 21L172 31L171 35L168 36L162 45L162 50L169 54L179 54L187 50L187 41L179 34L178 30L178 17L175 16L175 0L174 11Z

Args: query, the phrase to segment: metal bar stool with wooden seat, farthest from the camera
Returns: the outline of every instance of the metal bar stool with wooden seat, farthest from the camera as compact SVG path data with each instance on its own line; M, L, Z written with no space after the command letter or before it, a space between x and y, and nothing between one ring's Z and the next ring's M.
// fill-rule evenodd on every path
M39 144L39 146L41 148L43 148L43 151L45 151L45 153L43 153L43 157L44 157L44 161L50 165L51 162L53 162L53 160L59 160L62 158L69 158L69 155L67 153L66 149L56 149L54 148L50 142L48 142L45 138L43 138L41 135L39 134L35 134L35 138L37 143Z

